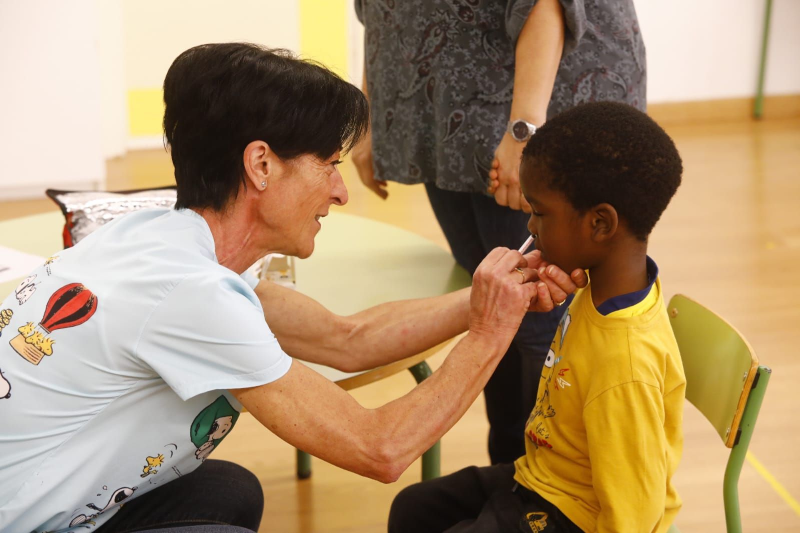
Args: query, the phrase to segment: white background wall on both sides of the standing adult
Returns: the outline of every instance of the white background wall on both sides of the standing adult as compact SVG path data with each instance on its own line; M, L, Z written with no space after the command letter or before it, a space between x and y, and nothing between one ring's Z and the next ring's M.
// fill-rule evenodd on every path
M363 31L352 2L306 2L312 13L313 2L346 2L349 71L360 84ZM765 0L636 2L651 103L754 94ZM0 199L102 183L104 158L130 145L128 91L158 89L175 56L202 42L299 50L298 4L0 0ZM774 0L767 94L800 93L798 51L800 0Z

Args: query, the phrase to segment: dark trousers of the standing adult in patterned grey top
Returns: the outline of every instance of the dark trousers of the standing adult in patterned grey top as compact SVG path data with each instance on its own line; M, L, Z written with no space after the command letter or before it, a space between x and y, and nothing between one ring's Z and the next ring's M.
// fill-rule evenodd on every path
M498 205L493 197L446 191L429 183L425 188L455 260L470 274L492 249L518 249L530 236L530 215ZM492 464L510 463L525 454L525 423L536 403L542 366L566 307L529 312L483 389Z

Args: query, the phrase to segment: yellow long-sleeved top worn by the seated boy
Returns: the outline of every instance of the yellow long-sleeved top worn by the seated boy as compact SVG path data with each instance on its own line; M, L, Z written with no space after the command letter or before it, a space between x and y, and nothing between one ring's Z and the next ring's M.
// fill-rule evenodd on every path
M605 316L590 284L558 325L514 479L584 531L666 531L685 392L660 281Z

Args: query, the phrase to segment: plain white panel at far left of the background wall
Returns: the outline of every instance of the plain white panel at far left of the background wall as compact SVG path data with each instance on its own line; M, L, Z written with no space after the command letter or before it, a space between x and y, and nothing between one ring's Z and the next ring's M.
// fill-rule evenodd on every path
M97 39L94 0L0 1L0 200L104 180Z

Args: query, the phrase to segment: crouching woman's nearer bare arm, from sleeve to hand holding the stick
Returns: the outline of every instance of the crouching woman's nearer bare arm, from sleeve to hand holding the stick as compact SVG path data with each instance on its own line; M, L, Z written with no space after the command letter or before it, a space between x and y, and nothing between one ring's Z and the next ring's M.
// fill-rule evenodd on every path
M514 272L522 264L508 249L486 257L474 275L470 332L432 376L380 408L363 408L296 361L279 380L231 392L294 447L390 483L455 424L494 372L536 295L536 284L520 283Z

